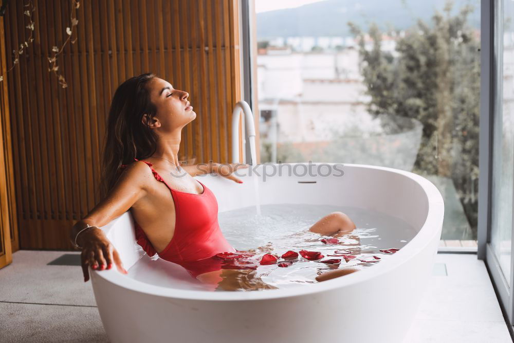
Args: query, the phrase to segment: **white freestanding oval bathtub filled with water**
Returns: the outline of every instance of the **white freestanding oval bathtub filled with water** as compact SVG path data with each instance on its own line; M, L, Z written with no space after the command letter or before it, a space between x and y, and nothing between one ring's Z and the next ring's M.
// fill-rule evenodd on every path
M176 267L167 269L174 270L176 287L132 277L129 268L148 256L136 248L132 216L126 212L102 229L129 274L115 267L89 270L111 341L401 342L432 272L443 225L442 196L426 178L406 171L344 165L342 176L313 177L301 176L307 164L289 166L296 165L296 176L284 169L282 175L259 178L261 204L370 209L406 221L416 236L387 260L332 280L277 290L206 292L180 286L189 275L166 261ZM262 173L262 168L257 166L256 171ZM216 195L220 212L254 205L250 170L238 172L246 174L243 184L200 176Z

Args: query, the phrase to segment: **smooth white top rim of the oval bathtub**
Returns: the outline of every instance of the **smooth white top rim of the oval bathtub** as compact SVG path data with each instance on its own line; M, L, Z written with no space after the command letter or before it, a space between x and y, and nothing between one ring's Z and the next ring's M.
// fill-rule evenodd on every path
M290 165L306 164L306 163L291 163ZM338 163L326 163L328 165L335 165ZM352 273L346 275L344 278L335 278L324 282L309 284L304 287L282 288L278 290L263 290L253 292L208 292L208 291L189 291L181 290L179 288L157 286L150 283L135 280L131 277L125 276L118 272L116 265L108 270L94 270L89 268L89 273L94 274L91 278L99 277L105 281L111 282L119 287L126 288L138 293L185 299L185 300L205 300L205 301L227 301L227 300L263 300L284 297L296 297L309 294L316 294L325 291L331 291L335 288L344 287L346 285L357 284L368 281L378 275L390 272L391 270L400 267L403 263L408 261L413 256L417 255L420 251L427 248L433 241L436 234L440 234L443 225L444 216L444 201L439 190L430 180L425 177L389 167L380 167L373 165L362 164L338 164L347 167L358 167L375 169L386 172L393 172L402 176L408 177L416 182L425 192L428 203L427 218L419 232L414 238L409 241L403 248L397 251L394 255L390 256L387 260L381 261L372 268L364 268L359 273ZM117 219L114 219L117 220ZM430 229L435 228L435 229Z

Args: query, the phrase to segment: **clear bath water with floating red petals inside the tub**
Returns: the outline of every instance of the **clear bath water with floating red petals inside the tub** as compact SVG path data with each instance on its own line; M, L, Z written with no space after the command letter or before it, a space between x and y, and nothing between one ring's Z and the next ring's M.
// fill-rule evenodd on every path
M308 229L323 216L335 211L341 211L350 216L357 228L352 233L339 237L339 242L336 244L324 244L321 240L331 238L330 236L322 236L310 232ZM248 258L249 261L258 265L254 276L272 288L289 288L318 283L315 279L318 275L335 268L372 267L392 256L392 254L380 251L381 249L401 249L416 234L416 230L412 226L393 216L369 209L330 205L261 205L261 214L257 213L256 207L251 206L218 213L218 222L225 238L234 248L250 250L255 253L255 256ZM259 263L264 254L278 256L277 262L280 263L284 261L280 257L288 250L295 252L300 250L319 251L324 257L316 261L309 261L300 255L291 260L293 263L287 267L279 267L278 264L260 265ZM356 256L356 258L345 261L343 257L328 256L337 255L335 250L348 250L347 255ZM379 259L375 259L374 256ZM174 273L169 269L170 264L177 266L173 263L161 259L151 261L148 256L144 257L145 259L141 259L128 270L129 276L132 275L141 281L162 286L214 291L212 287L200 284L198 280L189 275L173 279ZM341 262L339 265L320 262L327 259L341 259ZM181 275L186 273L185 270L180 270L180 272L182 272ZM241 278L243 277L241 276ZM236 290L254 289L248 287ZM219 287L215 291L225 292L219 290Z

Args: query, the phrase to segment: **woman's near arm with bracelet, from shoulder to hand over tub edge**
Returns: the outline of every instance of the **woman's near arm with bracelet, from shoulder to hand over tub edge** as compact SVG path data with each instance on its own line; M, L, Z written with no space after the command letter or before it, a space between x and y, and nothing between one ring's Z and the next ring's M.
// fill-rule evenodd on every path
M82 247L84 281L89 279L88 265L93 269L99 265L99 269L103 270L104 267L110 268L114 262L118 270L126 274L118 252L99 227L126 212L146 194L144 181L149 177L146 174L150 174L150 169L144 163L129 165L107 196L71 228L71 241L75 242L77 238L77 244ZM80 232L87 224L94 227Z

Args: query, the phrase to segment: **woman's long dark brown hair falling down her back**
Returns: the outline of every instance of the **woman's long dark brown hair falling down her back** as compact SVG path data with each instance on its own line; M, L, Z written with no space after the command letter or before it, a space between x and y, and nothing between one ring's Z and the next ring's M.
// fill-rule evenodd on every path
M154 77L152 73L134 76L120 84L114 93L102 152L101 198L116 184L121 165L132 163L134 158L150 157L157 149L157 135L141 121L148 114L147 123L151 122L157 113L146 87Z

